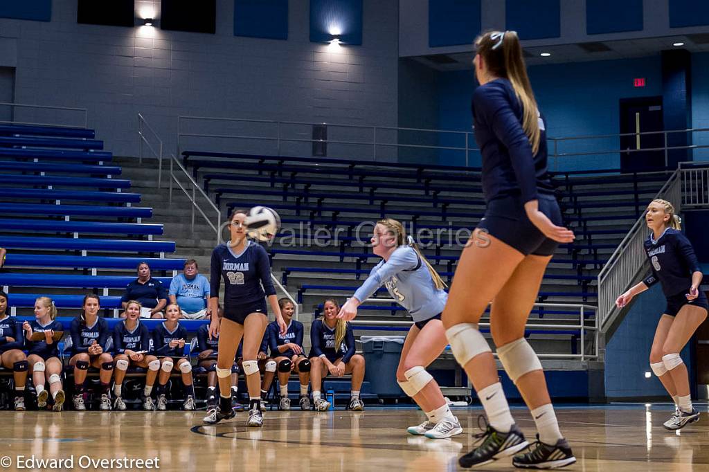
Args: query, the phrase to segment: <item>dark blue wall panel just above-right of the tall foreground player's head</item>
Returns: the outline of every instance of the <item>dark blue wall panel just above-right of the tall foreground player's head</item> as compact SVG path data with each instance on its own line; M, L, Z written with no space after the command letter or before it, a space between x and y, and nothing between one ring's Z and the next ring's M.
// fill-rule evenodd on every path
M520 39L559 38L559 0L506 0L506 25Z

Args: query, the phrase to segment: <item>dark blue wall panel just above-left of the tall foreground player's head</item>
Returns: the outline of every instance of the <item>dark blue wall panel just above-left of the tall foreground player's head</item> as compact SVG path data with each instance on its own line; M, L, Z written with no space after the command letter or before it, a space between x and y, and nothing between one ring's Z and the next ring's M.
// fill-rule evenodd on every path
M480 33L480 0L430 0L428 45L471 44Z

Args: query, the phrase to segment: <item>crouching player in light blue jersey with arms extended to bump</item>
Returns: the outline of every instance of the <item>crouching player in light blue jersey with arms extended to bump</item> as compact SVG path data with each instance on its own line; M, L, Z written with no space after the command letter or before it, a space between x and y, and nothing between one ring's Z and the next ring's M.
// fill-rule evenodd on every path
M450 411L438 383L426 371L448 344L440 320L447 300L446 285L413 238L406 237L403 225L397 220L386 218L376 222L372 250L384 260L374 266L354 296L342 305L337 318L354 319L357 307L385 285L414 321L401 350L396 381L425 412L427 420L409 427L408 432L431 439L460 434L463 428Z

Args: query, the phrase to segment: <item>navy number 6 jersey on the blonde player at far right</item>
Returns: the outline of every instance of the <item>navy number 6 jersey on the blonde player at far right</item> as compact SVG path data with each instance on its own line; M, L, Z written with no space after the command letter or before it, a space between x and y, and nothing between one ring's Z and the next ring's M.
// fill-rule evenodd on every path
M652 274L644 279L645 285L649 287L659 281L668 297L688 293L693 272L702 269L687 237L680 230L668 227L657 241L650 233L644 247L652 269Z

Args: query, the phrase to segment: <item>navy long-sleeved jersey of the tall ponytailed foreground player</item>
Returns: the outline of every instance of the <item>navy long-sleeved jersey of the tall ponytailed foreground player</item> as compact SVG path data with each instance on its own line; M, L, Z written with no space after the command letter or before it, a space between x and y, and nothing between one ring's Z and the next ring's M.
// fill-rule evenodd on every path
M540 115L539 150L532 155L522 128L522 103L510 81L496 79L479 86L473 94L472 108L486 201L513 195L527 203L537 198L537 192L553 195L547 174L546 122Z

